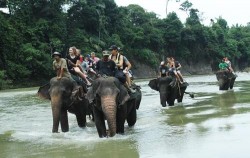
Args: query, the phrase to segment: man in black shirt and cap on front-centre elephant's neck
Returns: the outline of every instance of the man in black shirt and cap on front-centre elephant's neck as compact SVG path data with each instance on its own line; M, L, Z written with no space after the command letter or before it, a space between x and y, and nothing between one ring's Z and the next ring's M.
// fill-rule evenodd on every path
M102 52L103 58L96 63L97 74L115 76L117 70L116 64L113 60L109 59L109 52Z

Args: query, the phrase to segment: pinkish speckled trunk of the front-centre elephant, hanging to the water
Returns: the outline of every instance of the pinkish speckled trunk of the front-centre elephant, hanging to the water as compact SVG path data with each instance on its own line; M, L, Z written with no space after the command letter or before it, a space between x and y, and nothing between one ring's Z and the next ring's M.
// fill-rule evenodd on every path
M109 126L109 136L116 134L116 98L114 96L101 97L102 110Z

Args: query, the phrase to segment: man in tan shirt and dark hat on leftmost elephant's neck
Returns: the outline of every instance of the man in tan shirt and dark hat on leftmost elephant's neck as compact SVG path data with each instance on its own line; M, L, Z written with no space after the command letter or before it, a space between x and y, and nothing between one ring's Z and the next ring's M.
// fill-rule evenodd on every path
M56 70L57 79L60 80L62 77L68 77L72 79L65 59L61 58L61 54L59 52L54 52L52 54L53 61L53 70Z

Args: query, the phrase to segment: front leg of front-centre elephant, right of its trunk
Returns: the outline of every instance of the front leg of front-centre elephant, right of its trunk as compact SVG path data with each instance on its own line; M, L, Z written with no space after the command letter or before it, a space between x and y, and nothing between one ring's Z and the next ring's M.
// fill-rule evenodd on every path
M120 105L117 108L116 114L116 133L123 134L124 133L124 124L127 115L127 104Z

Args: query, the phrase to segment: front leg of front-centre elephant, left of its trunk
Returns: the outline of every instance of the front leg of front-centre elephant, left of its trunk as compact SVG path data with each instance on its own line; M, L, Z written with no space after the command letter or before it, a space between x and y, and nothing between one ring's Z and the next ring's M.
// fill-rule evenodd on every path
M107 137L107 131L105 126L105 119L102 111L93 107L93 113L95 117L95 125L100 138Z

